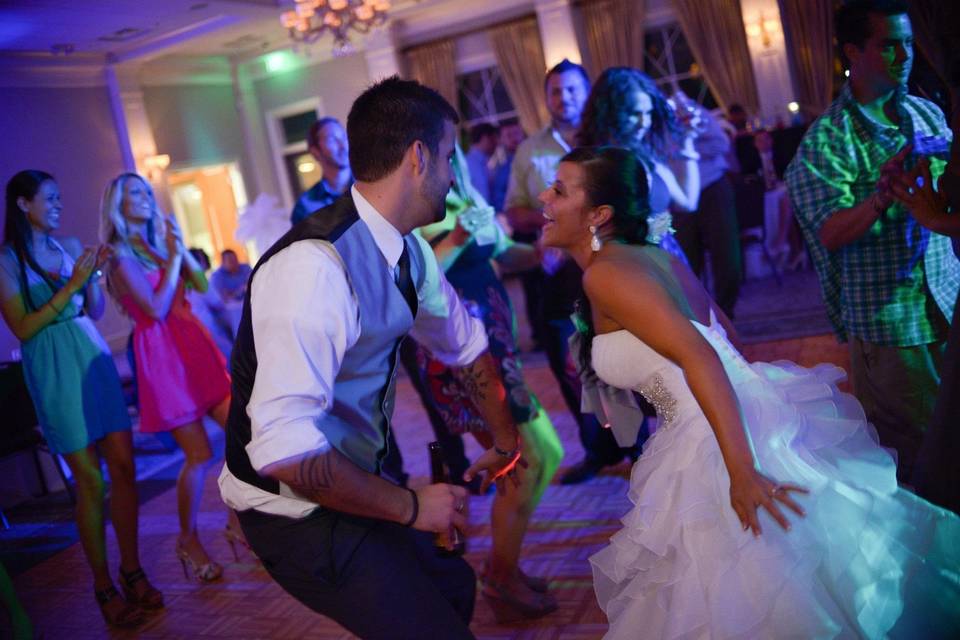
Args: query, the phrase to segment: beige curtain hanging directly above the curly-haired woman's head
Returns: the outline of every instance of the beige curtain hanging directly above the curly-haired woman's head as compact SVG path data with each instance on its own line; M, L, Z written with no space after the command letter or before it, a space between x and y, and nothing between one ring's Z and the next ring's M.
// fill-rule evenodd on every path
M593 77L607 67L643 69L646 0L591 0L581 11Z

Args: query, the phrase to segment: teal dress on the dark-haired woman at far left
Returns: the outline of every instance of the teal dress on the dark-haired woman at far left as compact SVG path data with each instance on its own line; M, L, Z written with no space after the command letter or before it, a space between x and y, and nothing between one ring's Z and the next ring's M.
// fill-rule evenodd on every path
M56 246L63 263L55 280L62 285L73 271L73 259ZM7 251L13 257L9 247ZM14 263L19 264L16 258ZM11 275L21 282L19 273ZM27 286L34 308L55 293L29 267ZM100 332L83 315L82 295L74 296L54 322L23 342L21 351L27 389L51 451L73 453L108 433L130 429L120 376Z

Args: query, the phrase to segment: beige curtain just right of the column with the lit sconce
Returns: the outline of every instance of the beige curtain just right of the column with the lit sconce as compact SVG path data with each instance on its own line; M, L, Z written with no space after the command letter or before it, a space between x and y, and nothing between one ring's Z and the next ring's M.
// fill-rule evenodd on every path
M830 105L833 93L833 1L779 2L797 101L813 119Z

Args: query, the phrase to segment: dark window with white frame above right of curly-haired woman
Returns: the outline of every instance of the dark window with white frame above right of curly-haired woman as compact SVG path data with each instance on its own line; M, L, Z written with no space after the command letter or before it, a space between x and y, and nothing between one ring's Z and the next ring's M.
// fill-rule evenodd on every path
M719 106L678 23L668 22L647 29L643 58L644 71L666 95L680 89L707 109Z

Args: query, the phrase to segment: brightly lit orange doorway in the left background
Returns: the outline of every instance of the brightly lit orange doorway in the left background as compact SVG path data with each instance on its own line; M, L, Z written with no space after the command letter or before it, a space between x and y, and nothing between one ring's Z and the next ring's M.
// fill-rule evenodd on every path
M237 218L247 206L237 163L168 171L167 186L188 248L203 249L214 268L225 249L233 249L248 264L257 258L252 246L236 239Z

